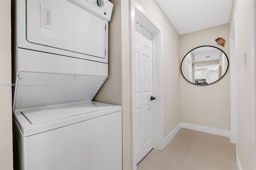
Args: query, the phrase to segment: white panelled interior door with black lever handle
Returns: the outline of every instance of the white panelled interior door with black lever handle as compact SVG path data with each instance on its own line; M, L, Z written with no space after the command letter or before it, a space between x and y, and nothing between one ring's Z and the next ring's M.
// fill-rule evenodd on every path
M152 34L135 22L136 164L153 148Z

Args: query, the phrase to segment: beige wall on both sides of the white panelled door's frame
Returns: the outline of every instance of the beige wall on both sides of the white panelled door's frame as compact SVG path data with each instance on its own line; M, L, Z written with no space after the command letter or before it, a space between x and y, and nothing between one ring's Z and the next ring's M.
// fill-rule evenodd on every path
M122 105L123 169L129 170L132 169L130 2L112 0L112 3L114 10L109 23L109 76L94 101ZM180 123L179 35L154 0L138 3L162 28L165 138Z

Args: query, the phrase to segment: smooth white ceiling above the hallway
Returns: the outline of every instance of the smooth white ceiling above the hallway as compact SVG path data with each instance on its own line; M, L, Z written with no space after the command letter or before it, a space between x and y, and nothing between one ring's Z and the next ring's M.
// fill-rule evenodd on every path
M182 35L230 21L233 0L156 0Z

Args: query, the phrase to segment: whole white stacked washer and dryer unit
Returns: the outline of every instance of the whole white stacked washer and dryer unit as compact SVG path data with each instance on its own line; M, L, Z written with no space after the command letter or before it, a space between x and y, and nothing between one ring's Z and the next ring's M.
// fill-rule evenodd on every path
M122 169L121 107L92 101L108 77L113 4L17 0L15 6L15 168Z

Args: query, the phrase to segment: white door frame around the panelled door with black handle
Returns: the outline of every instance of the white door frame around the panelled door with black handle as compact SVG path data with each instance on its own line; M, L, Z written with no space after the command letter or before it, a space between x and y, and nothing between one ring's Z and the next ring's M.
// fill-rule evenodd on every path
M130 1L130 33L131 33L131 109L132 109L132 168L136 170L135 143L135 20L146 30L152 33L152 69L153 69L153 93L156 100L153 102L153 148L163 150L164 120L163 120L163 91L162 91L162 28L160 28L145 10L136 2Z

